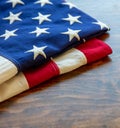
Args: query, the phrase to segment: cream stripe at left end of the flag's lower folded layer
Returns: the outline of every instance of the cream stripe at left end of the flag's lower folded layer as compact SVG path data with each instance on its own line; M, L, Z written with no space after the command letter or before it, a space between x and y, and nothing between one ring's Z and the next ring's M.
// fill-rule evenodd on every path
M7 100L25 90L29 85L23 73L19 73L9 81L0 85L0 102Z

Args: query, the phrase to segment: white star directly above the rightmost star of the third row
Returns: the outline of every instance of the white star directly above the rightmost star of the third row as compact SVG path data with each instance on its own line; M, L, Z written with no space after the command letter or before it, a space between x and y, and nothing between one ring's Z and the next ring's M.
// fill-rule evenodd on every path
M72 16L72 15L68 14L68 18L63 18L63 20L69 21L70 25L72 25L75 22L82 23L81 21L78 20L80 17L81 16Z

